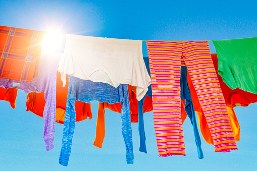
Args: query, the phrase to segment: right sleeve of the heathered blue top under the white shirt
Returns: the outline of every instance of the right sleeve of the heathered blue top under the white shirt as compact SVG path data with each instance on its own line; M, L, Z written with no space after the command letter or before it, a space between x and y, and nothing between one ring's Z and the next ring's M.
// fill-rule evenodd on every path
M134 153L133 153L133 143L132 143L132 129L131 129L131 119L130 119L130 105L129 105L129 94L128 85L121 84L123 89L123 100L121 101L121 121L122 121L122 135L124 138L126 146L126 159L127 164L133 164Z

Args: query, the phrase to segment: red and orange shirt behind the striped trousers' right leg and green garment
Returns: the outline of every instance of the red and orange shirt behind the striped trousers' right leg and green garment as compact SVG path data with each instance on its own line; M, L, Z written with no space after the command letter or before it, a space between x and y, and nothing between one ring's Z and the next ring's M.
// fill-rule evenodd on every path
M217 59L217 54L212 53L212 60L213 64L218 76L218 80L221 86L222 93L224 95L225 103L227 106L228 110L228 115L229 115L229 120L231 124L231 128L235 137L236 141L240 141L240 125L238 123L237 117L235 115L234 107L235 106L248 106L250 103L257 102L257 95L252 94L246 91L243 91L239 88L236 88L232 90L229 88L222 80L222 77L218 75L218 59ZM194 86L192 84L192 81L190 77L188 77L188 85L191 91L192 99L193 99L193 105L194 109L197 112L198 115L198 120L199 120L199 127L201 130L201 134L203 139L209 143L209 144L214 144L213 138L210 133L210 129L208 128L207 121L203 115L202 108L200 106L196 91L194 89Z

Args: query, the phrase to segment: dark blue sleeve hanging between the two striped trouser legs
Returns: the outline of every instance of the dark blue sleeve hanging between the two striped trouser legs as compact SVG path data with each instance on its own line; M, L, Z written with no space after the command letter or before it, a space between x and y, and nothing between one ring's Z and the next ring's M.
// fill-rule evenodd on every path
M190 93L190 89L187 83L187 69L184 66L181 66L181 76L180 76L180 88L181 88L181 100L185 99L185 111L189 119L191 120L191 124L193 126L194 131L194 139L197 147L198 158L203 158L203 153L201 150L201 139L197 128L197 123L195 119L194 106L192 102L192 97Z

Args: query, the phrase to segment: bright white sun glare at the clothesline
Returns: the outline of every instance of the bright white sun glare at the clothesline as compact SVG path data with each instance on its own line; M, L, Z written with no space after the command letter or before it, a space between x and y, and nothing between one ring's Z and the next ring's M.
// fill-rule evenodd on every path
M45 34L42 45L48 52L58 51L58 49L62 48L64 37L65 35L60 31L49 30Z

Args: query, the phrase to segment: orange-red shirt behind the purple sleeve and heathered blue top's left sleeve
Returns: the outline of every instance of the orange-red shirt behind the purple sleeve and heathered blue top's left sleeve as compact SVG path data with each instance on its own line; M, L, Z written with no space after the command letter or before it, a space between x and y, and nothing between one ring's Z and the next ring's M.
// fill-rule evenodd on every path
M66 78L68 80L68 76ZM63 87L61 74L57 72L56 84L56 122L63 124L65 117L65 108L68 95L68 84ZM84 121L89 118L92 119L91 104L82 101L76 101L76 122ZM43 118L43 111L45 106L44 92L28 93L27 96L27 111L35 113L37 116Z

